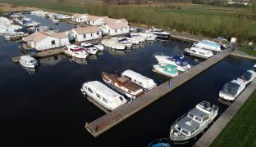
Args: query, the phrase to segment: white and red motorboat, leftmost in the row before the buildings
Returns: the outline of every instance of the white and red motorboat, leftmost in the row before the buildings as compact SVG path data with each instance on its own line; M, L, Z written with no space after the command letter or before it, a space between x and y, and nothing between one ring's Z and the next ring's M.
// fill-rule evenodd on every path
M88 56L88 53L79 46L76 46L74 44L68 45L63 48L64 53L66 53L68 56L74 56L76 58L83 58L85 59Z

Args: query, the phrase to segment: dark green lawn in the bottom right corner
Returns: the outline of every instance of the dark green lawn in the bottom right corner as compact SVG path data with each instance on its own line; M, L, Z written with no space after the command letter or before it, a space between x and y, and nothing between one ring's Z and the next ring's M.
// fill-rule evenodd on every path
M256 146L256 91L231 119L211 147Z

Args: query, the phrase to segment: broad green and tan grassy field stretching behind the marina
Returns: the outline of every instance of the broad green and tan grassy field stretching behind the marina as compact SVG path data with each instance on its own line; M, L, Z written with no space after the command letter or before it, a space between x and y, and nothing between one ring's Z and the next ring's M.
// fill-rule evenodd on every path
M236 37L256 42L256 15L245 7L214 7L191 3L153 5L104 5L101 1L78 0L0 0L13 5L39 7L54 11L89 13L96 16L126 18L135 24L155 26L206 37Z

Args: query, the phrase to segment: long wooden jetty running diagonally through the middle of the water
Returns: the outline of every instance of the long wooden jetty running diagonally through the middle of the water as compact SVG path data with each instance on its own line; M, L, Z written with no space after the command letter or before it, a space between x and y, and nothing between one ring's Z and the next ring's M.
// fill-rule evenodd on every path
M170 79L171 87L169 86L169 81L164 82L158 87L153 88L153 90L139 96L132 103L121 105L117 107L117 109L103 115L101 118L95 119L93 122L86 122L85 128L94 137L103 134L105 131L116 126L119 122L124 121L126 118L129 118L133 114L139 112L139 110L144 109L144 107L152 104L155 100L158 100L170 91L173 91L176 89L176 87L180 87L183 83L188 82L199 73L202 73L204 70L217 64L219 61L223 60L229 55L230 52L222 51L216 56L213 56L212 58L203 61L199 65L194 66L194 68L189 69L187 72L181 73L177 77Z

